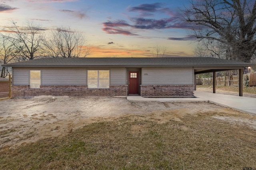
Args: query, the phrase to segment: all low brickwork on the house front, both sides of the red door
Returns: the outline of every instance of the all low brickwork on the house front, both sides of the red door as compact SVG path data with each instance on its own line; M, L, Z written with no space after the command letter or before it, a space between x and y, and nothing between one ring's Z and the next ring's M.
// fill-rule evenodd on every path
M108 89L88 89L87 86L12 86L12 98L34 96L127 96L127 85L111 85ZM140 85L142 97L193 97L194 85Z

